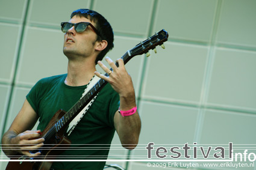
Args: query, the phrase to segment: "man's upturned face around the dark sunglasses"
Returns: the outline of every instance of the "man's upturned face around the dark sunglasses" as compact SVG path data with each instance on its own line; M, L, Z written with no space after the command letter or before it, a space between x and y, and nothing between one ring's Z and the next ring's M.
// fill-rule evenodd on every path
M90 22L86 17L73 16L69 20L70 23ZM78 57L89 57L95 52L95 41L97 34L93 31L92 27L87 26L84 32L76 32L74 26L64 34L63 53L69 59L77 59Z

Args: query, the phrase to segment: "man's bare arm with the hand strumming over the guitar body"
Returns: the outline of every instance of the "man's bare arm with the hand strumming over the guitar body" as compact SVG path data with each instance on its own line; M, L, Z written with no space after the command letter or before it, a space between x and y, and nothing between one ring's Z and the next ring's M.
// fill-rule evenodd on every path
M37 119L38 115L26 99L19 114L2 137L2 150L7 156L13 156L17 153L27 156L40 155L40 153L31 154L29 152L42 147L45 141L45 139L39 138L40 130L31 130Z

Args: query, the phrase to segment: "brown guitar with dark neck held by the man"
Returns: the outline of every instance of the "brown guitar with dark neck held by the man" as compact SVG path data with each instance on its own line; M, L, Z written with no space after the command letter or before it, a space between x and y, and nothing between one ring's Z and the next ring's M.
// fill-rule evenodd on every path
M143 53L147 53L146 56L149 55L148 50L155 49L156 46L160 45L164 48L163 43L167 41L168 33L162 29L159 32L156 32L154 35L146 39L145 41L141 41L137 44L133 49L128 50L123 56L122 59L126 64L136 55L142 55ZM156 52L156 50L155 50ZM118 67L118 63L116 62L116 66ZM110 68L113 71L112 68ZM105 73L105 76L108 76ZM40 156L37 157L28 157L22 155L11 156L10 161L7 165L7 170L19 169L19 170L48 170L51 168L53 162L51 160L57 159L57 156L64 151L61 148L61 145L65 145L65 147L69 147L71 142L67 139L65 135L66 128L69 123L73 120L83 110L83 108L96 96L96 94L101 91L101 89L107 84L107 81L104 79L99 79L98 82L95 83L94 87L90 89L90 91L82 97L69 111L64 112L62 109L57 111L49 122L48 126L46 126L45 130L43 130L40 138L45 138L45 142L42 148L37 151L41 152Z

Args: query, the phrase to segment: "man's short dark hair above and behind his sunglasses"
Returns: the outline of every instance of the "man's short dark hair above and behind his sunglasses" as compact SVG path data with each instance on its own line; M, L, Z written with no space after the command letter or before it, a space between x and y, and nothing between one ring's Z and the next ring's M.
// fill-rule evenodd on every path
M103 17L101 14L89 9L75 10L71 14L70 19L72 19L73 16L86 17L92 22L95 22L95 28L99 31L99 34L101 35L98 35L97 41L106 40L108 42L107 47L98 54L95 60L95 64L97 64L97 62L101 61L106 53L114 47L114 34L110 23L108 23L107 19L105 19L105 17Z

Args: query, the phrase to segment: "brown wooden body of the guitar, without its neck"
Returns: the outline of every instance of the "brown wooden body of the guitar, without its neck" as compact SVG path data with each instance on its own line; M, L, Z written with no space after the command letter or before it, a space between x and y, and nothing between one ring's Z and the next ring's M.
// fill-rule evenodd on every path
M56 123L58 120L60 120L63 115L66 114L62 109L57 111L54 116L52 117L51 121L49 122L48 126L46 126L45 130L42 132L42 136L44 136L52 127L57 126ZM56 156L61 154L64 150L61 150L61 145L64 144L64 147L69 147L71 142L69 139L67 139L64 136L64 130L66 129L66 126L63 126L58 133L52 136L48 141L45 141L45 144L43 145L41 155L39 157L34 157L30 161L30 157L22 156L17 154L16 156L12 157L11 160L17 160L17 161L11 161L8 163L6 169L7 170L13 170L13 169L19 169L19 170L48 170L51 168L53 162L37 162L33 160L49 160L49 159L55 159ZM41 136L40 136L41 138ZM48 149L49 148L49 149ZM22 161L26 160L26 161Z

